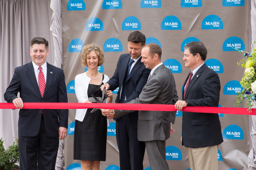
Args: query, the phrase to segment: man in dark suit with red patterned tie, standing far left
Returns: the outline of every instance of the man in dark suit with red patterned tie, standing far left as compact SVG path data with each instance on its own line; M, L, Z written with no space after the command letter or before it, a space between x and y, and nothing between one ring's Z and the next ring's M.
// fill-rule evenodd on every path
M67 103L63 70L48 64L48 41L30 42L32 62L16 67L4 99L20 108L19 158L21 170L55 169L59 139L67 136L68 109L22 109L24 103ZM20 97L17 97L18 92Z

